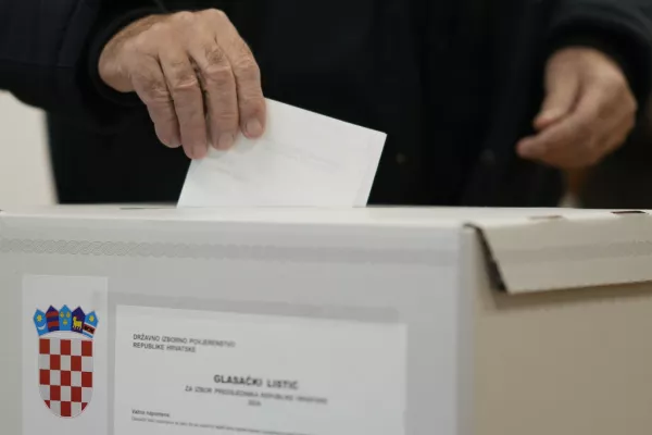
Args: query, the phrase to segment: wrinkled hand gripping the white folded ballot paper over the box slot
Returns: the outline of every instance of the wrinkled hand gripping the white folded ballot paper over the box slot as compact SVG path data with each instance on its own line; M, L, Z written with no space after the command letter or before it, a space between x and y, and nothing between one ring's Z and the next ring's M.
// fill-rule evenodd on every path
M259 66L221 11L131 23L104 47L99 72L113 89L135 91L159 139L183 145L191 159L203 158L209 146L230 148L239 132L253 138L265 128Z

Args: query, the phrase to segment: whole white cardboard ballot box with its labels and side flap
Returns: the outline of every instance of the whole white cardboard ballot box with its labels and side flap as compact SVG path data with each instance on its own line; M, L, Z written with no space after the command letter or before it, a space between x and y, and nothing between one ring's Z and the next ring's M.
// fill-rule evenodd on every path
M0 214L2 434L649 435L652 216Z

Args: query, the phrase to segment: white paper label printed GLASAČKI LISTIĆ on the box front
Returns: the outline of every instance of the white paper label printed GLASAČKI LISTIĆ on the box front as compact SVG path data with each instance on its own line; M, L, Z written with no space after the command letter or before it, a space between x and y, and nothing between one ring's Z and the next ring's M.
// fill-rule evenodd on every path
M118 306L115 433L401 435L406 330Z

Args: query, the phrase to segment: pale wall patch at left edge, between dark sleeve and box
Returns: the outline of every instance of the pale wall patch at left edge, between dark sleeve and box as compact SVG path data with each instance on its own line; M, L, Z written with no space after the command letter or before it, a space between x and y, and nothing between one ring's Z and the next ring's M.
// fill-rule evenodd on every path
M0 210L54 202L42 113L0 92Z

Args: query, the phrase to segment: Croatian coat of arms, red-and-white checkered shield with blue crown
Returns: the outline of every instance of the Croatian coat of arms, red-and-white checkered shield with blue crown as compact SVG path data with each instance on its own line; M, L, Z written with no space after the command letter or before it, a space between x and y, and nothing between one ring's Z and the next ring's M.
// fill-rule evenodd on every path
M39 391L54 415L75 418L92 397L92 340L98 326L95 311L50 307L36 310Z

